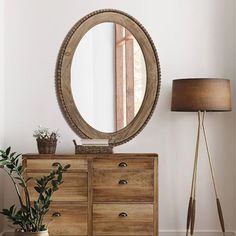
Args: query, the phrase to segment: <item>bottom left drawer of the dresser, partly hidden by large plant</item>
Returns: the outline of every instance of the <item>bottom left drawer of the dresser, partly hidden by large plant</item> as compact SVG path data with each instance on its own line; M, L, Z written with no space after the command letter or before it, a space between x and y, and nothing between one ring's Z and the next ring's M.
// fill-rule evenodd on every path
M79 204L53 204L45 216L49 234L87 235L87 206Z

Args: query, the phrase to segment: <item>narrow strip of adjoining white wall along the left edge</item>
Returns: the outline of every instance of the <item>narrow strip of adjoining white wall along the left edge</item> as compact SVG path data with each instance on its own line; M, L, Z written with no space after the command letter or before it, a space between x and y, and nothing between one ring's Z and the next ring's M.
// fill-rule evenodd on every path
M0 0L0 149L4 145L4 0ZM0 209L3 207L3 175L0 171ZM0 215L0 234L3 228Z

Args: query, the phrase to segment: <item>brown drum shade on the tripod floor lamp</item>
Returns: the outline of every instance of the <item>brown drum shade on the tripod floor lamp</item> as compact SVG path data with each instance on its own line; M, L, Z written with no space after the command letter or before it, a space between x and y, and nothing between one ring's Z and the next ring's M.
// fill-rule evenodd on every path
M231 111L228 79L177 79L172 84L172 111Z

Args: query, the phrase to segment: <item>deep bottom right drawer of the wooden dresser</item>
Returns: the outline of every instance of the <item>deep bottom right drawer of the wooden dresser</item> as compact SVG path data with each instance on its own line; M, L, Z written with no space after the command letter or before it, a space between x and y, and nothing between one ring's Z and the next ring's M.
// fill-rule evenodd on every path
M94 235L153 235L152 204L94 204Z

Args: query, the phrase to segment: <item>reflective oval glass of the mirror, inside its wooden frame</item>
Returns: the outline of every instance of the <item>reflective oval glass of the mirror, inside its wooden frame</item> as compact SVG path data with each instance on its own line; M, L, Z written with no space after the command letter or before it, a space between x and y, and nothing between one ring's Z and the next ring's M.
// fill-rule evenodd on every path
M135 37L123 26L101 23L79 42L71 65L71 89L83 119L101 132L126 127L146 90L146 65Z

